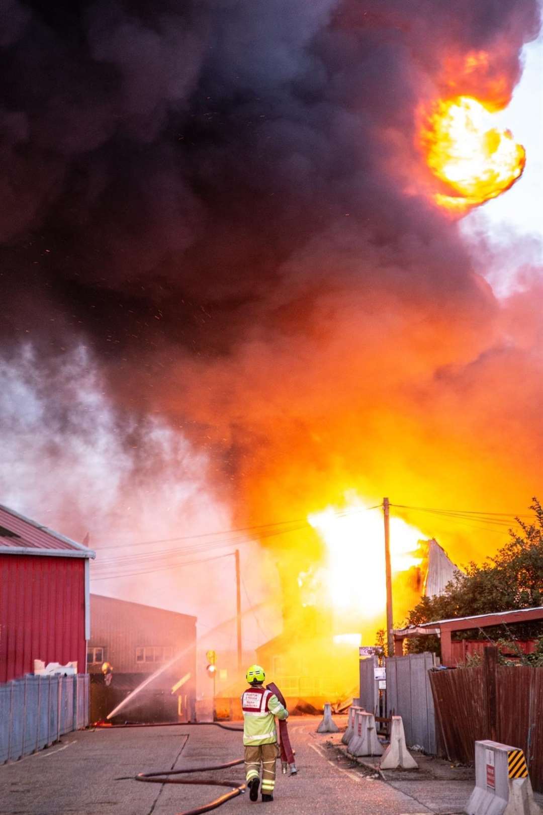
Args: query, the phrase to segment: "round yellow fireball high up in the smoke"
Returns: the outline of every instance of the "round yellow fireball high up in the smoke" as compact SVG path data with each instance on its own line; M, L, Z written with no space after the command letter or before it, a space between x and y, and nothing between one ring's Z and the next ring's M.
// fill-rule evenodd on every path
M523 173L526 153L510 130L494 126L490 104L470 96L439 99L422 111L420 146L445 185L435 202L464 214L508 190Z

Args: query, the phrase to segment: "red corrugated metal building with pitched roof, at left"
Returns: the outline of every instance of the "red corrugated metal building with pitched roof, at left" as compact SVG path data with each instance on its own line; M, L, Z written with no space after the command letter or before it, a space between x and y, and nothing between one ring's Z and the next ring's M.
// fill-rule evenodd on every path
M0 504L0 682L33 673L34 659L86 672L89 558L83 544Z

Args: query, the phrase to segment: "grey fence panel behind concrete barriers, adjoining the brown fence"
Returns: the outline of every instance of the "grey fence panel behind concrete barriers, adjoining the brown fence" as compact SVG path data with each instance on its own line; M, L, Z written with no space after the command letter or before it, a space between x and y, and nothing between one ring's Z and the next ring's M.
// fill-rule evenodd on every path
M386 715L401 716L408 746L435 754L435 710L428 671L434 654L408 654L386 659Z

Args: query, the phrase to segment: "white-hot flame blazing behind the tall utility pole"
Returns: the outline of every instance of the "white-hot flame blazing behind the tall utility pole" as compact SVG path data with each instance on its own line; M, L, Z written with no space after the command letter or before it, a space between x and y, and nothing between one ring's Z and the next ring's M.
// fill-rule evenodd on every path
M382 615L386 607L384 530L381 509L365 510L357 501L345 514L333 507L307 520L326 548L326 590L338 612L352 611L366 619ZM393 575L422 562L417 557L421 531L391 517Z

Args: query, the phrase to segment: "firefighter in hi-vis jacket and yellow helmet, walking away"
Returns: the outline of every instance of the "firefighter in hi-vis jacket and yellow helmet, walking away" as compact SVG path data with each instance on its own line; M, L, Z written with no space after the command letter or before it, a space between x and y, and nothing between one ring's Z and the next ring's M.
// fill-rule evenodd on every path
M289 711L271 690L263 687L266 675L260 665L251 665L245 678L250 687L241 696L241 707L249 798L252 801L258 799L262 764L262 800L272 801L276 786L276 759L279 756L275 716L286 719Z

